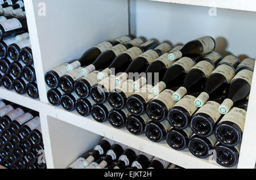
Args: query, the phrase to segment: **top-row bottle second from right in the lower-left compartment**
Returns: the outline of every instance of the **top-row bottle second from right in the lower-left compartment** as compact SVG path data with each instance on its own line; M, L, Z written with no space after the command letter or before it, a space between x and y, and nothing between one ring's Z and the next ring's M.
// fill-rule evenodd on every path
M19 117L15 118L10 123L10 131L13 133L18 133L19 128L24 125L24 123L30 121L32 118L38 117L39 113L35 112L34 110L29 110L28 112L20 115Z

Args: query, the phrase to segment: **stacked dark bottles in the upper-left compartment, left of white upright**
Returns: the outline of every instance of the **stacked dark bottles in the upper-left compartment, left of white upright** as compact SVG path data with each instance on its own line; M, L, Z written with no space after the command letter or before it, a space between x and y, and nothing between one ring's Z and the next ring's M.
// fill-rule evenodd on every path
M9 2L15 4L7 6ZM2 6L0 11L5 14L0 12L0 85L20 95L27 93L31 98L38 98L26 17L8 14L13 11L19 14L24 9L23 1L6 1Z

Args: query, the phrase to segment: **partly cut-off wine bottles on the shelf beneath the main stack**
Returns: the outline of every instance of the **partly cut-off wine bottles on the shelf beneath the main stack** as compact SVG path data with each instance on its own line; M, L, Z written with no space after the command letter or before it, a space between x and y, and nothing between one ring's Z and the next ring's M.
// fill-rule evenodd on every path
M160 158L103 138L92 152L85 152L69 169L179 169Z

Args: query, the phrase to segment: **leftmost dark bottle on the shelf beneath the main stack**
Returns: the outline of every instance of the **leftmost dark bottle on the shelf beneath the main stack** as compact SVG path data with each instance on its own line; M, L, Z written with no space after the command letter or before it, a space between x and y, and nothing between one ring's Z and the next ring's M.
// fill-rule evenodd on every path
M109 149L112 147L112 145L115 142L113 140L110 140L108 138L103 138L97 145L94 147L93 152L90 156L85 158L85 160L82 162L82 165L84 168L89 166L93 161L96 161L98 158L105 156L106 152L109 151Z

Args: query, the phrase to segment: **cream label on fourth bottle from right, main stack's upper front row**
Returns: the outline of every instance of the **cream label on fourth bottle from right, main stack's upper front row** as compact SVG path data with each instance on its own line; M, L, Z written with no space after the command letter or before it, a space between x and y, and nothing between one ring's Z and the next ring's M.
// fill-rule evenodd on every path
M161 92L158 96L156 96L154 100L159 100L163 102L169 111L176 104L176 101L172 98L172 95L174 95L174 91L166 89L163 92Z

